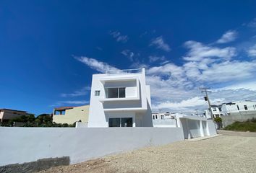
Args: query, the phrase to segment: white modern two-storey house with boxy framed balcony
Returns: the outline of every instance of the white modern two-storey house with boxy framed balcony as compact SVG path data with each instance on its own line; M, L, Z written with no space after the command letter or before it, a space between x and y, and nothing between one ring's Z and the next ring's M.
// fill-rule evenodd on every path
M145 68L93 75L88 127L153 127Z

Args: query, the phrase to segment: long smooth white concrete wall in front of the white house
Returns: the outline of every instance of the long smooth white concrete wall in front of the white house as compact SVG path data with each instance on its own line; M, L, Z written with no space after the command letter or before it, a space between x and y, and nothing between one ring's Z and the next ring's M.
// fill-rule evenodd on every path
M0 166L67 156L70 164L183 141L182 128L0 128Z

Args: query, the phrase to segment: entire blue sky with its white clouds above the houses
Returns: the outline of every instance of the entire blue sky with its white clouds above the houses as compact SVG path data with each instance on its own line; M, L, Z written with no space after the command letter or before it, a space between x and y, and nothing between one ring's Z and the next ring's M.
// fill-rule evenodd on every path
M153 107L256 99L255 1L1 1L0 107L90 101L92 74L147 71Z

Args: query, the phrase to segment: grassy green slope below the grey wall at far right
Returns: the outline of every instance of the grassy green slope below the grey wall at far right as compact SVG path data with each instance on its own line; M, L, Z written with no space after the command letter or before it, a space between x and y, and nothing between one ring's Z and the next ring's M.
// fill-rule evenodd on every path
M256 132L256 118L252 118L244 122L236 121L235 123L226 126L224 130Z

